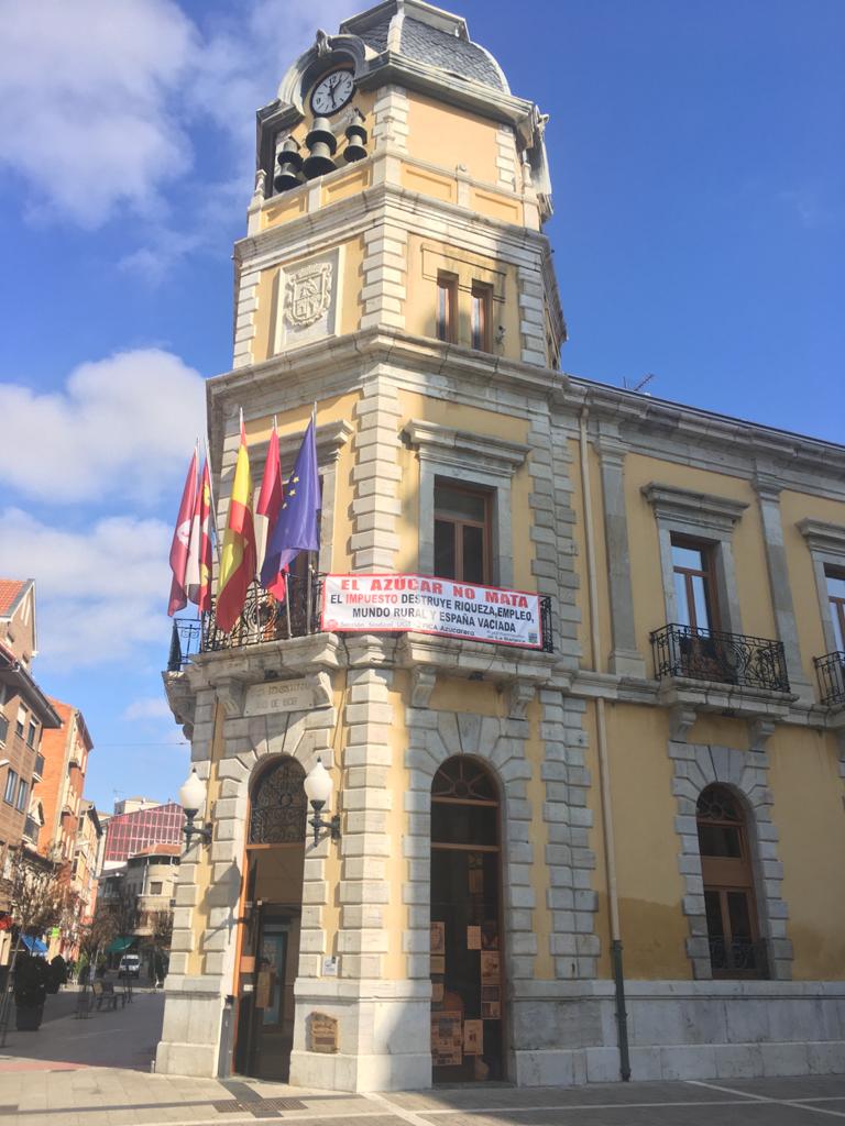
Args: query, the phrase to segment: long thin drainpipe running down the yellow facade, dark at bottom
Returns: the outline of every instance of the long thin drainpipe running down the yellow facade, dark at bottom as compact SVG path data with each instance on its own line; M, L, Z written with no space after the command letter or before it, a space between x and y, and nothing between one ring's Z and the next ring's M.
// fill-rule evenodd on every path
M581 410L579 423L579 452L581 462L581 499L584 502L584 540L587 555L587 597L589 601L589 644L593 668L601 672L602 645L598 623L598 584L596 581L596 548L593 531L593 508L589 490L589 457L587 447L587 415ZM602 794L602 828L604 830L604 859L607 878L607 902L611 913L611 958L613 981L616 986L616 1025L619 1028L620 1075L631 1079L631 1057L628 1048L628 1010L625 1008L625 977L622 969L622 937L619 924L619 893L616 890L616 851L613 840L613 808L611 804L611 765L607 758L607 724L605 701L596 697L596 734L598 738L598 775Z

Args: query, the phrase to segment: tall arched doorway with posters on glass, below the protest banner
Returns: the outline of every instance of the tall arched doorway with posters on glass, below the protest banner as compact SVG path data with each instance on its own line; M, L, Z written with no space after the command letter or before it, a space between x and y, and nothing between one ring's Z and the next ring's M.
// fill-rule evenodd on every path
M432 784L432 1064L435 1083L504 1078L499 796L447 759Z

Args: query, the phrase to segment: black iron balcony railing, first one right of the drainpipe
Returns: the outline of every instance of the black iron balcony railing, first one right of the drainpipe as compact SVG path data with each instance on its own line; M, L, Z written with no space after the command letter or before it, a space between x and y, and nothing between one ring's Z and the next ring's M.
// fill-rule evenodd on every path
M739 688L790 690L780 641L674 624L651 634L651 649L658 680L686 677Z

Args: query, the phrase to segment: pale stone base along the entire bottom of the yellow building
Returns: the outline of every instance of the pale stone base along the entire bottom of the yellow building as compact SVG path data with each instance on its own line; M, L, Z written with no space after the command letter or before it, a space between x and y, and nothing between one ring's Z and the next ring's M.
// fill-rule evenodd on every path
M224 998L197 978L168 988L157 1071L220 1073ZM300 981L291 1084L335 1091L432 1085L425 982ZM521 983L509 1078L518 1087L620 1079L610 981ZM845 1072L845 983L628 982L634 1081ZM308 1019L337 1020L338 1051L309 1051Z

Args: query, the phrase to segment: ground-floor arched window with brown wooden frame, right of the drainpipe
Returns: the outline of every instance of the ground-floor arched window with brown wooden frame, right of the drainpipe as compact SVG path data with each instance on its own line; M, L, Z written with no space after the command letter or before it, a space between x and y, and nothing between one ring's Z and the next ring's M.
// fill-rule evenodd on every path
M713 977L765 977L745 813L724 786L708 786L696 808Z

